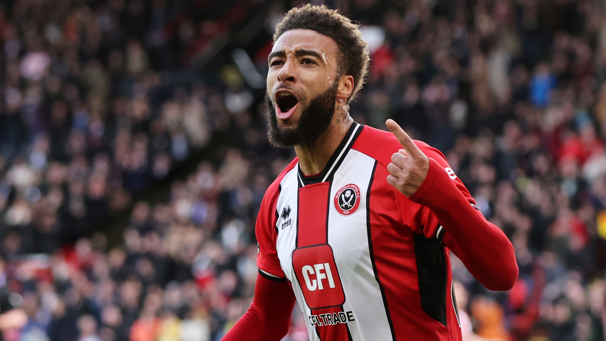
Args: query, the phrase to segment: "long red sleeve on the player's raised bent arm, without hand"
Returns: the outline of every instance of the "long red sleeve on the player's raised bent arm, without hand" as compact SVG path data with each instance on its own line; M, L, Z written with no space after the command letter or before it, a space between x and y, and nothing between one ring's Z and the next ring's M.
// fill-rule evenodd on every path
M428 154L428 157L427 177L409 199L426 206L435 215L439 223L433 227L436 237L461 259L482 285L495 291L511 289L518 279L511 242L475 208L473 198L447 168L441 153Z

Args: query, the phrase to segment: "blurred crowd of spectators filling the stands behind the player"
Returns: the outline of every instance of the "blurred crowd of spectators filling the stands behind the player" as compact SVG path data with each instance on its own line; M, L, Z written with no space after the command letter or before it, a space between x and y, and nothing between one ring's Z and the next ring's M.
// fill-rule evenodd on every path
M218 341L247 309L259 204L294 155L234 69L167 81L228 30L214 3L0 3L0 339ZM269 7L261 74L300 3ZM441 149L516 249L508 292L453 257L464 340L605 340L606 3L326 3L373 42L353 118ZM179 163L198 166L147 200ZM110 245L99 226L125 210ZM27 319L3 322L11 308ZM307 340L297 310L286 341Z

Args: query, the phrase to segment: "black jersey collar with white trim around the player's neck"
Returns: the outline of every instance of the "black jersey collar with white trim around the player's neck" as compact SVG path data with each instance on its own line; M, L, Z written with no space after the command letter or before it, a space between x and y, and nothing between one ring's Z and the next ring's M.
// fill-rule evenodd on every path
M335 149L333 155L330 156L326 166L324 166L324 170L322 170L322 173L318 177L305 178L305 175L301 170L301 165L297 163L299 188L308 184L323 183L332 180L333 176L335 176L335 172L339 169L339 166L341 166L341 163L347 156L347 152L349 152L351 146L353 146L353 143L356 141L356 138L358 138L362 132L363 127L362 124L359 124L356 121L351 124L347 133L345 133L345 137L343 137L343 140L341 140L341 143L339 143L339 146Z

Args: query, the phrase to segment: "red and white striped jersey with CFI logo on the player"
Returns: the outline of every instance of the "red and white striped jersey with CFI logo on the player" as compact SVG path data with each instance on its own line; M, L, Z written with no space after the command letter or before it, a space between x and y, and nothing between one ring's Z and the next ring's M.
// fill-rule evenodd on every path
M444 155L415 143L473 204ZM353 123L319 177L295 159L265 194L259 273L290 283L311 341L461 340L445 231L386 180L398 149Z

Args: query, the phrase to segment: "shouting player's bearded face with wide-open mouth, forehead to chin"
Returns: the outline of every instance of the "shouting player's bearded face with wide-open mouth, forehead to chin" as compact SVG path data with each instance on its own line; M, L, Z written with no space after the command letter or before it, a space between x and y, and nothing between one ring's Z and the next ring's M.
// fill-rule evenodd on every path
M282 147L313 143L335 113L339 86L336 42L313 30L290 30L268 58L270 141Z

